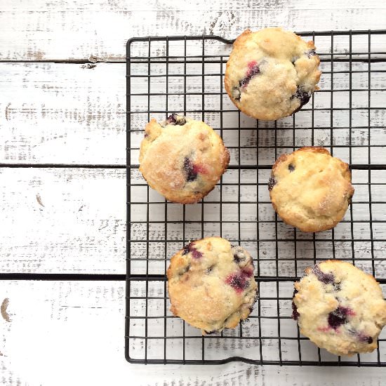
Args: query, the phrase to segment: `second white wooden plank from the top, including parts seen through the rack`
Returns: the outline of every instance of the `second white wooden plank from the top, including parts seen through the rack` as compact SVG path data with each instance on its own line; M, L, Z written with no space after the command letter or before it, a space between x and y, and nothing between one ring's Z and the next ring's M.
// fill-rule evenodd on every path
M228 50L229 51L229 50ZM350 144L350 107L347 74L347 63L335 63L334 88L338 90L333 96L333 143L347 145L337 148L334 154L343 159L349 158ZM171 74L181 74L182 65L170 65ZM183 67L183 66L182 66ZM354 164L368 163L368 74L366 63L355 63L357 71L352 76L352 107L360 107L352 112L352 144L359 145L352 149ZM222 67L224 69L225 66ZM374 71L384 68L382 63L373 63ZM242 164L254 164L258 157L259 164L273 164L274 145L281 147L277 154L291 151L293 146L311 145L312 117L314 118L314 145L330 145L331 115L331 69L322 65L324 74L321 77L321 91L314 96L314 114L302 111L293 117L281 119L277 123L277 139L272 130L274 122L260 121L258 131L256 121L241 114L241 146L248 147L241 153ZM201 65L189 65L189 74L200 74ZM0 63L0 163L6 164L126 164L126 82L124 64L100 63L92 68L85 65L58 63ZM220 65L206 65L206 72L219 74ZM132 65L131 73L135 76L147 74L147 65ZM152 65L152 74L165 74L165 65ZM220 92L220 76L206 76L206 93ZM385 88L385 73L374 72L371 75L373 89ZM364 90L364 91L361 91ZM166 78L154 77L151 82L152 95L148 105L147 81L145 78L133 77L132 93L143 94L131 98L131 128L142 130L148 116L142 113L162 111L166 108ZM170 77L168 108L171 111L183 111L183 81L178 76ZM201 92L201 77L190 77L187 81L188 93ZM235 110L226 94L206 95L207 110L227 110L222 114L223 138L231 152L232 164L238 163L239 153L238 119ZM187 98L187 110L199 110L201 95L190 95ZM386 105L384 91L371 91L371 107L378 107L371 112L371 145L386 147ZM307 106L305 107L307 108ZM308 107L308 109L310 109ZM342 110L340 110L342 109ZM201 119L201 112L190 113ZM164 113L152 113L151 117L164 119ZM205 120L214 128L220 128L220 114L206 113ZM288 128L295 124L295 142L293 132ZM132 163L138 164L138 148L142 133L131 134L133 148ZM256 152L256 145L259 147ZM271 147L271 148L268 148ZM286 149L286 147L288 147ZM386 162L384 148L378 147L371 152L371 162Z

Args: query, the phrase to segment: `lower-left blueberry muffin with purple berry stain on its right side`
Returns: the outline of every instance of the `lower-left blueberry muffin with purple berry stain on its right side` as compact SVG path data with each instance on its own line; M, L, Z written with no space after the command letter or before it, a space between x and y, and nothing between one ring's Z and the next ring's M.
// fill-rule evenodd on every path
M168 293L171 312L203 335L234 328L255 302L253 260L221 237L192 241L171 258Z

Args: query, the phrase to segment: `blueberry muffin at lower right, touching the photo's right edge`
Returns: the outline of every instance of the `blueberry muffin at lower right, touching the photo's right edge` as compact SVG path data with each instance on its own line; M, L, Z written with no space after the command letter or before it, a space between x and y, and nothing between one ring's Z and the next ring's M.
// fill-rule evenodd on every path
M327 260L295 283L293 319L300 333L336 355L372 352L386 324L386 302L375 279L349 262Z

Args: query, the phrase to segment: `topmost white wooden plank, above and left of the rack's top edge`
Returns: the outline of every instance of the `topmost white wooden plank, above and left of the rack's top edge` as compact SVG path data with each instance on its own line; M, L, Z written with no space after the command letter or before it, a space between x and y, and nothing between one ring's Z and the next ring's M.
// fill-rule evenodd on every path
M272 6L273 5L273 6ZM0 60L124 60L132 36L220 34L234 38L246 27L281 25L297 31L381 29L378 0L93 1L6 0L0 11ZM364 28L364 26L366 26ZM47 33L48 32L48 33ZM12 45L9 44L12 36Z

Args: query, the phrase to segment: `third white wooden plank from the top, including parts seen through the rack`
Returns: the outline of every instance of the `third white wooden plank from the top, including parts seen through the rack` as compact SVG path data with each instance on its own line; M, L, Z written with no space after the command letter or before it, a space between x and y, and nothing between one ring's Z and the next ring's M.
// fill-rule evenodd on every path
M279 239L279 276L302 274L313 257L312 235L298 232L298 269L293 258L293 227L279 223L274 227L274 211L269 203L267 180L269 170L241 170L241 205L237 204L238 171L224 175L222 200L216 187L204 201L204 233L201 232L201 204L185 208L185 241L204 236L222 235L248 248L258 258L257 223L259 220L260 276L276 274L274 239ZM368 225L367 171L354 171L357 193L353 199L354 251L357 264L371 270L371 243ZM385 171L373 171L373 238L375 258L382 258L386 223ZM150 189L149 227L147 230L147 186L138 170L132 171L131 257L132 273L146 272L146 240L149 247L149 273L164 274L165 255L170 258L182 246L182 206L167 204L168 225L165 229L164 199ZM258 207L256 202L259 201ZM383 203L383 204L382 204ZM100 168L0 168L0 272L125 274L126 258L126 170ZM222 211L222 223L220 223ZM243 221L239 227L238 220ZM350 220L350 211L345 220ZM335 228L335 256L351 258L350 222ZM169 241L164 242L165 239ZM331 231L317 234L317 258L333 256ZM346 241L347 240L347 241ZM165 251L166 247L166 251ZM290 259L290 260L288 260ZM370 271L369 271L370 272ZM375 274L386 277L386 265L375 262Z

